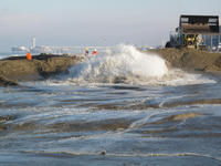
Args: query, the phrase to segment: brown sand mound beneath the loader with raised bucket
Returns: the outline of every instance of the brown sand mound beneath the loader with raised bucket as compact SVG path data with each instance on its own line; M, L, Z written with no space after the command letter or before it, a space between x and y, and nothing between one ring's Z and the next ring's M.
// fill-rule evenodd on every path
M154 52L162 56L171 68L200 70L204 72L221 71L221 53L211 53L197 49L157 49Z

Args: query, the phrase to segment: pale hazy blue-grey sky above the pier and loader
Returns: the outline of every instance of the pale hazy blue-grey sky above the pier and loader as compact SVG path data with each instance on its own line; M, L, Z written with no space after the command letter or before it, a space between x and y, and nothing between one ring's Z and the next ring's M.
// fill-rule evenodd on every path
M220 0L0 0L0 52L13 45L155 46L180 14L221 17Z

